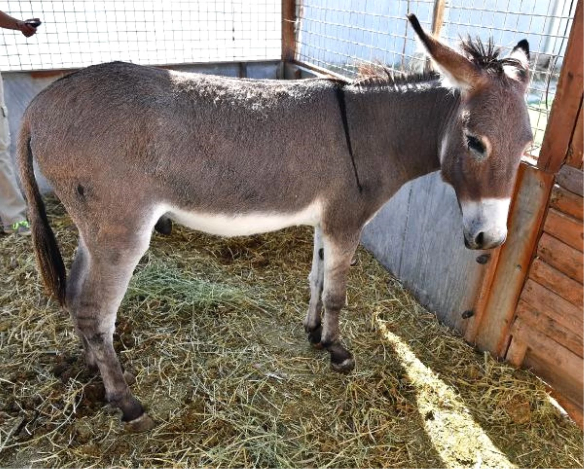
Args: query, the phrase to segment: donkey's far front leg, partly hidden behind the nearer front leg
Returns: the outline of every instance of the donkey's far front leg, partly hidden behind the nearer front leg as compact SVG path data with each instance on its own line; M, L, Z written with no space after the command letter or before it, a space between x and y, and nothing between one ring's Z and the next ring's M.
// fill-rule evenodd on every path
M322 229L314 228L314 251L312 252L312 269L308 280L310 282L310 303L304 319L304 329L308 333L308 341L317 348L321 348L321 313L322 313L322 286L324 283L324 244L322 243Z

